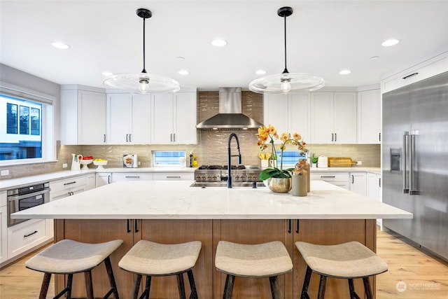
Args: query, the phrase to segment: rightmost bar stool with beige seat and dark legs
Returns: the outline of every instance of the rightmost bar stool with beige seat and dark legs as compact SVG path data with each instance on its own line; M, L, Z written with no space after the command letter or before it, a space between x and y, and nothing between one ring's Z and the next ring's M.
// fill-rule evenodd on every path
M347 242L337 245L315 245L296 242L295 246L307 263L302 295L309 298L308 286L311 272L321 275L318 298L325 295L327 277L349 280L350 298L359 298L353 287L353 279L362 278L367 299L372 299L369 277L387 271L387 264L373 251L359 242Z

